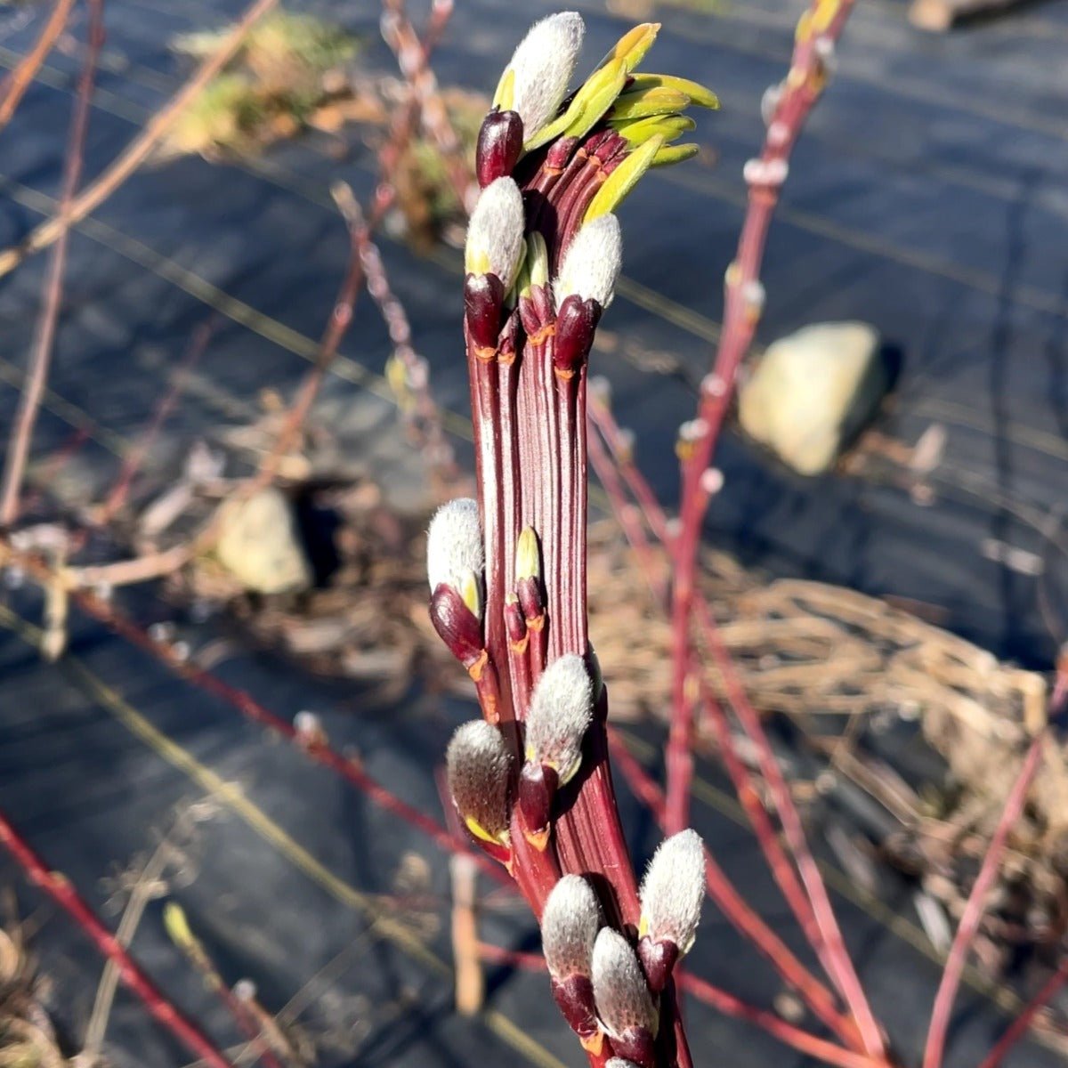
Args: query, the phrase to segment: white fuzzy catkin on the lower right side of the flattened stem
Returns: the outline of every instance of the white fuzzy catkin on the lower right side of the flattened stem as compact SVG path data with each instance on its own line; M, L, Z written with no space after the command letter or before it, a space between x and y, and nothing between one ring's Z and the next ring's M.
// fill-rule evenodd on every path
M705 848L695 831L679 831L660 843L640 896L642 932L688 953L705 900Z

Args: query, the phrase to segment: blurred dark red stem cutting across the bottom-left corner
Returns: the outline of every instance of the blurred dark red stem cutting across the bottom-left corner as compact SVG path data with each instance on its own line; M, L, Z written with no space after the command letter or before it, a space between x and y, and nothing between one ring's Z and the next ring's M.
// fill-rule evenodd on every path
M68 879L48 865L30 848L14 827L0 814L0 845L12 854L29 880L64 909L96 947L119 970L123 986L135 993L152 1016L209 1068L232 1068L211 1040L187 1019L155 986L123 948L114 934L96 917Z

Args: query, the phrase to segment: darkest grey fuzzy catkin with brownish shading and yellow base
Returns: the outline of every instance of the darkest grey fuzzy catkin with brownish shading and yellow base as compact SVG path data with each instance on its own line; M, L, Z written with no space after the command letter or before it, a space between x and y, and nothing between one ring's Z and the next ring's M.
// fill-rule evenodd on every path
M472 720L456 728L445 751L449 792L475 834L496 841L507 836L511 766L512 756L497 727Z

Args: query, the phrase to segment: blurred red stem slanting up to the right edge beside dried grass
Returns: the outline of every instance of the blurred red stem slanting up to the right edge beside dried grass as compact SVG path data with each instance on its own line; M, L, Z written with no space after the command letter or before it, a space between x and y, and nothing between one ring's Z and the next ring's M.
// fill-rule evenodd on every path
M1068 672L1064 668L1061 668L1057 673L1053 694L1050 697L1050 719L1063 712L1066 696L1068 696ZM1034 782L1035 775L1038 773L1039 766L1041 765L1042 750L1047 740L1048 732L1043 729L1035 736L1027 748L1020 772L1012 783L1012 788L1009 790L1008 797L1005 799L1005 807L1002 810L998 827L990 839L990 845L987 846L987 852L983 858L979 874L975 878L972 892L968 895L968 902L960 917L957 933L954 936L953 945L949 947L945 970L942 973L942 981L939 984L938 993L934 996L934 1005L931 1008L931 1021L927 1032L927 1042L924 1048L923 1068L941 1068L942 1066L946 1033L949 1027L949 1018L953 1014L953 1003L957 996L957 988L960 985L960 976L964 971L968 953L978 932L983 915L987 910L987 895L993 885L994 879L998 878L998 870L1001 866L1009 833L1017 819L1019 819L1020 813L1023 812L1031 784Z

